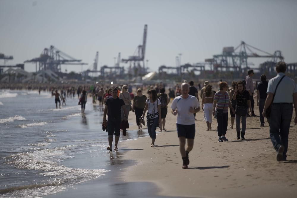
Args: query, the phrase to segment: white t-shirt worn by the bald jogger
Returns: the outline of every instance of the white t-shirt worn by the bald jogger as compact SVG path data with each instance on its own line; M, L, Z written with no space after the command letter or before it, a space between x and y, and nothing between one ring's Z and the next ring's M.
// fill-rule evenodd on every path
M173 99L171 108L177 109L177 121L178 124L192 125L195 124L194 114L190 112L190 107L198 108L200 106L199 101L195 96L189 95L187 99L183 99L182 96L177 96Z

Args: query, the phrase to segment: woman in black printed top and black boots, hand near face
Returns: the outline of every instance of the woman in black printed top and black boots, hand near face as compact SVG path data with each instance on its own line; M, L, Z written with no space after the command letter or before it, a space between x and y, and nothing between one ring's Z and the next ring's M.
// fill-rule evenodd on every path
M240 118L241 118L241 140L245 140L244 134L247 127L247 111L249 108L249 113L252 115L252 104L249 100L249 92L244 89L244 83L239 81L235 88L235 92L232 97L233 100L236 100L235 107L235 117L236 117L236 132L237 140L240 139Z

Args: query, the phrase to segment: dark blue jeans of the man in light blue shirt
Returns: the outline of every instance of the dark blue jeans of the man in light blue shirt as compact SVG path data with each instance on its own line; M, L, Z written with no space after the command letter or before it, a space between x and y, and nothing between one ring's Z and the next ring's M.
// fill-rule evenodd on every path
M270 139L277 151L280 145L285 147L283 156L286 159L288 150L288 136L293 115L291 103L273 103L270 115Z

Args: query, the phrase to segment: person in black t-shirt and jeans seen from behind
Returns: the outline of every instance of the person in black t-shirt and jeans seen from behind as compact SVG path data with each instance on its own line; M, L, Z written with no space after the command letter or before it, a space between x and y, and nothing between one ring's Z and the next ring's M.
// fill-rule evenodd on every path
M260 80L261 80L261 83L259 83L257 86L257 106L259 106L259 111L260 111L260 122L261 122L260 126L264 126L265 122L264 122L264 117L262 115L262 112L264 109L265 100L267 98L266 92L268 88L268 81L266 81L265 74L261 75Z

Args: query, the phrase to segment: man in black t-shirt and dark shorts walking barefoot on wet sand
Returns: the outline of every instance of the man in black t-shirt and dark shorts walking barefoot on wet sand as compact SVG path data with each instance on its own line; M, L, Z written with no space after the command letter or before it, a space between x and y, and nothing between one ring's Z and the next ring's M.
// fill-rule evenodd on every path
M127 113L125 102L118 97L118 90L114 88L112 90L112 97L108 98L105 103L105 109L103 114L103 123L107 122L108 129L108 151L112 151L113 134L115 135L115 150L118 150L118 142L120 139L120 126L121 126L121 108L124 110L124 120L127 120ZM108 114L108 121L106 120L106 114Z

